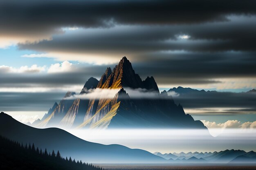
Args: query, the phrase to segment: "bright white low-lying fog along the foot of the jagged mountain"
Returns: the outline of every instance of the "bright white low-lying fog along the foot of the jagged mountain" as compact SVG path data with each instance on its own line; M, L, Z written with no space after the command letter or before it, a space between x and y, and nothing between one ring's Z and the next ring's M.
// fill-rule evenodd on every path
M111 129L67 130L86 141L121 144L149 152L213 152L226 149L256 151L256 129Z

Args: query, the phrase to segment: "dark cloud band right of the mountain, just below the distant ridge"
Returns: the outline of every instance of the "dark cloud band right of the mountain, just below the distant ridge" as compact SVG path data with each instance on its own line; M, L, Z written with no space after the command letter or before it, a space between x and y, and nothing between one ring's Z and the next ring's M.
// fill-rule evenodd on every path
M174 90L176 93L177 91ZM232 93L216 91L193 91L173 96L175 103L184 108L200 108L205 115L210 114L249 114L256 113L256 93ZM207 108L233 108L222 111ZM197 113L194 113L197 114ZM198 113L200 114L200 113Z

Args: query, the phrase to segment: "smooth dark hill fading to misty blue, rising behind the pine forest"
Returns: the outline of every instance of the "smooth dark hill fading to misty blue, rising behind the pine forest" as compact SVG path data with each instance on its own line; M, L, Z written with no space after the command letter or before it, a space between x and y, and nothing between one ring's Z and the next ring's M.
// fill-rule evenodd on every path
M59 150L63 157L91 163L164 163L166 159L145 150L121 145L103 145L84 141L58 128L37 129L0 113L0 135L19 143L34 143L38 148Z

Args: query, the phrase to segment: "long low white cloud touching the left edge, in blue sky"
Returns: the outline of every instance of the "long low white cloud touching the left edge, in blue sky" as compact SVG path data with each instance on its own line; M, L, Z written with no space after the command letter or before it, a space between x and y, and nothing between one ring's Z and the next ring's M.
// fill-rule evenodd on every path
M45 71L46 66L37 66L36 64L32 66L21 66L20 68L14 68L11 66L0 66L0 71L2 73L39 73Z

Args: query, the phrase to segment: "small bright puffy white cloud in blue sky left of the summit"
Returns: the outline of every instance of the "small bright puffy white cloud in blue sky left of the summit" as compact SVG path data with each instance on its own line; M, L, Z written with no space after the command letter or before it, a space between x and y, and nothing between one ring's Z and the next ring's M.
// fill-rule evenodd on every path
M61 73L61 72L69 72L69 71L74 71L74 66L72 63L68 61L64 61L63 63L56 63L52 64L49 69L48 73Z

